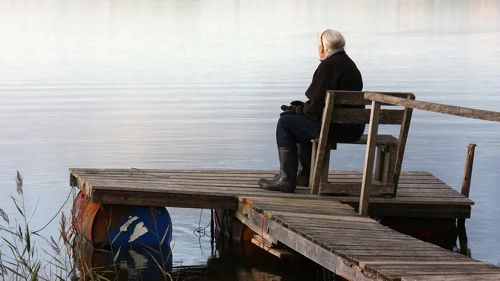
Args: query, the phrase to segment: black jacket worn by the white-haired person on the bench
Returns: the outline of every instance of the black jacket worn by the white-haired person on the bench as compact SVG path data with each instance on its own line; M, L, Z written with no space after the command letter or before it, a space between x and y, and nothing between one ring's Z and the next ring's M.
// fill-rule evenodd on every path
M300 114L318 122L321 127L325 97L328 90L362 91L363 80L356 64L341 51L324 59L313 75L313 81L305 92L309 99L299 110ZM334 107L346 107L335 105ZM365 108L361 106L349 106ZM330 126L330 141L357 140L364 132L365 124L335 124Z

